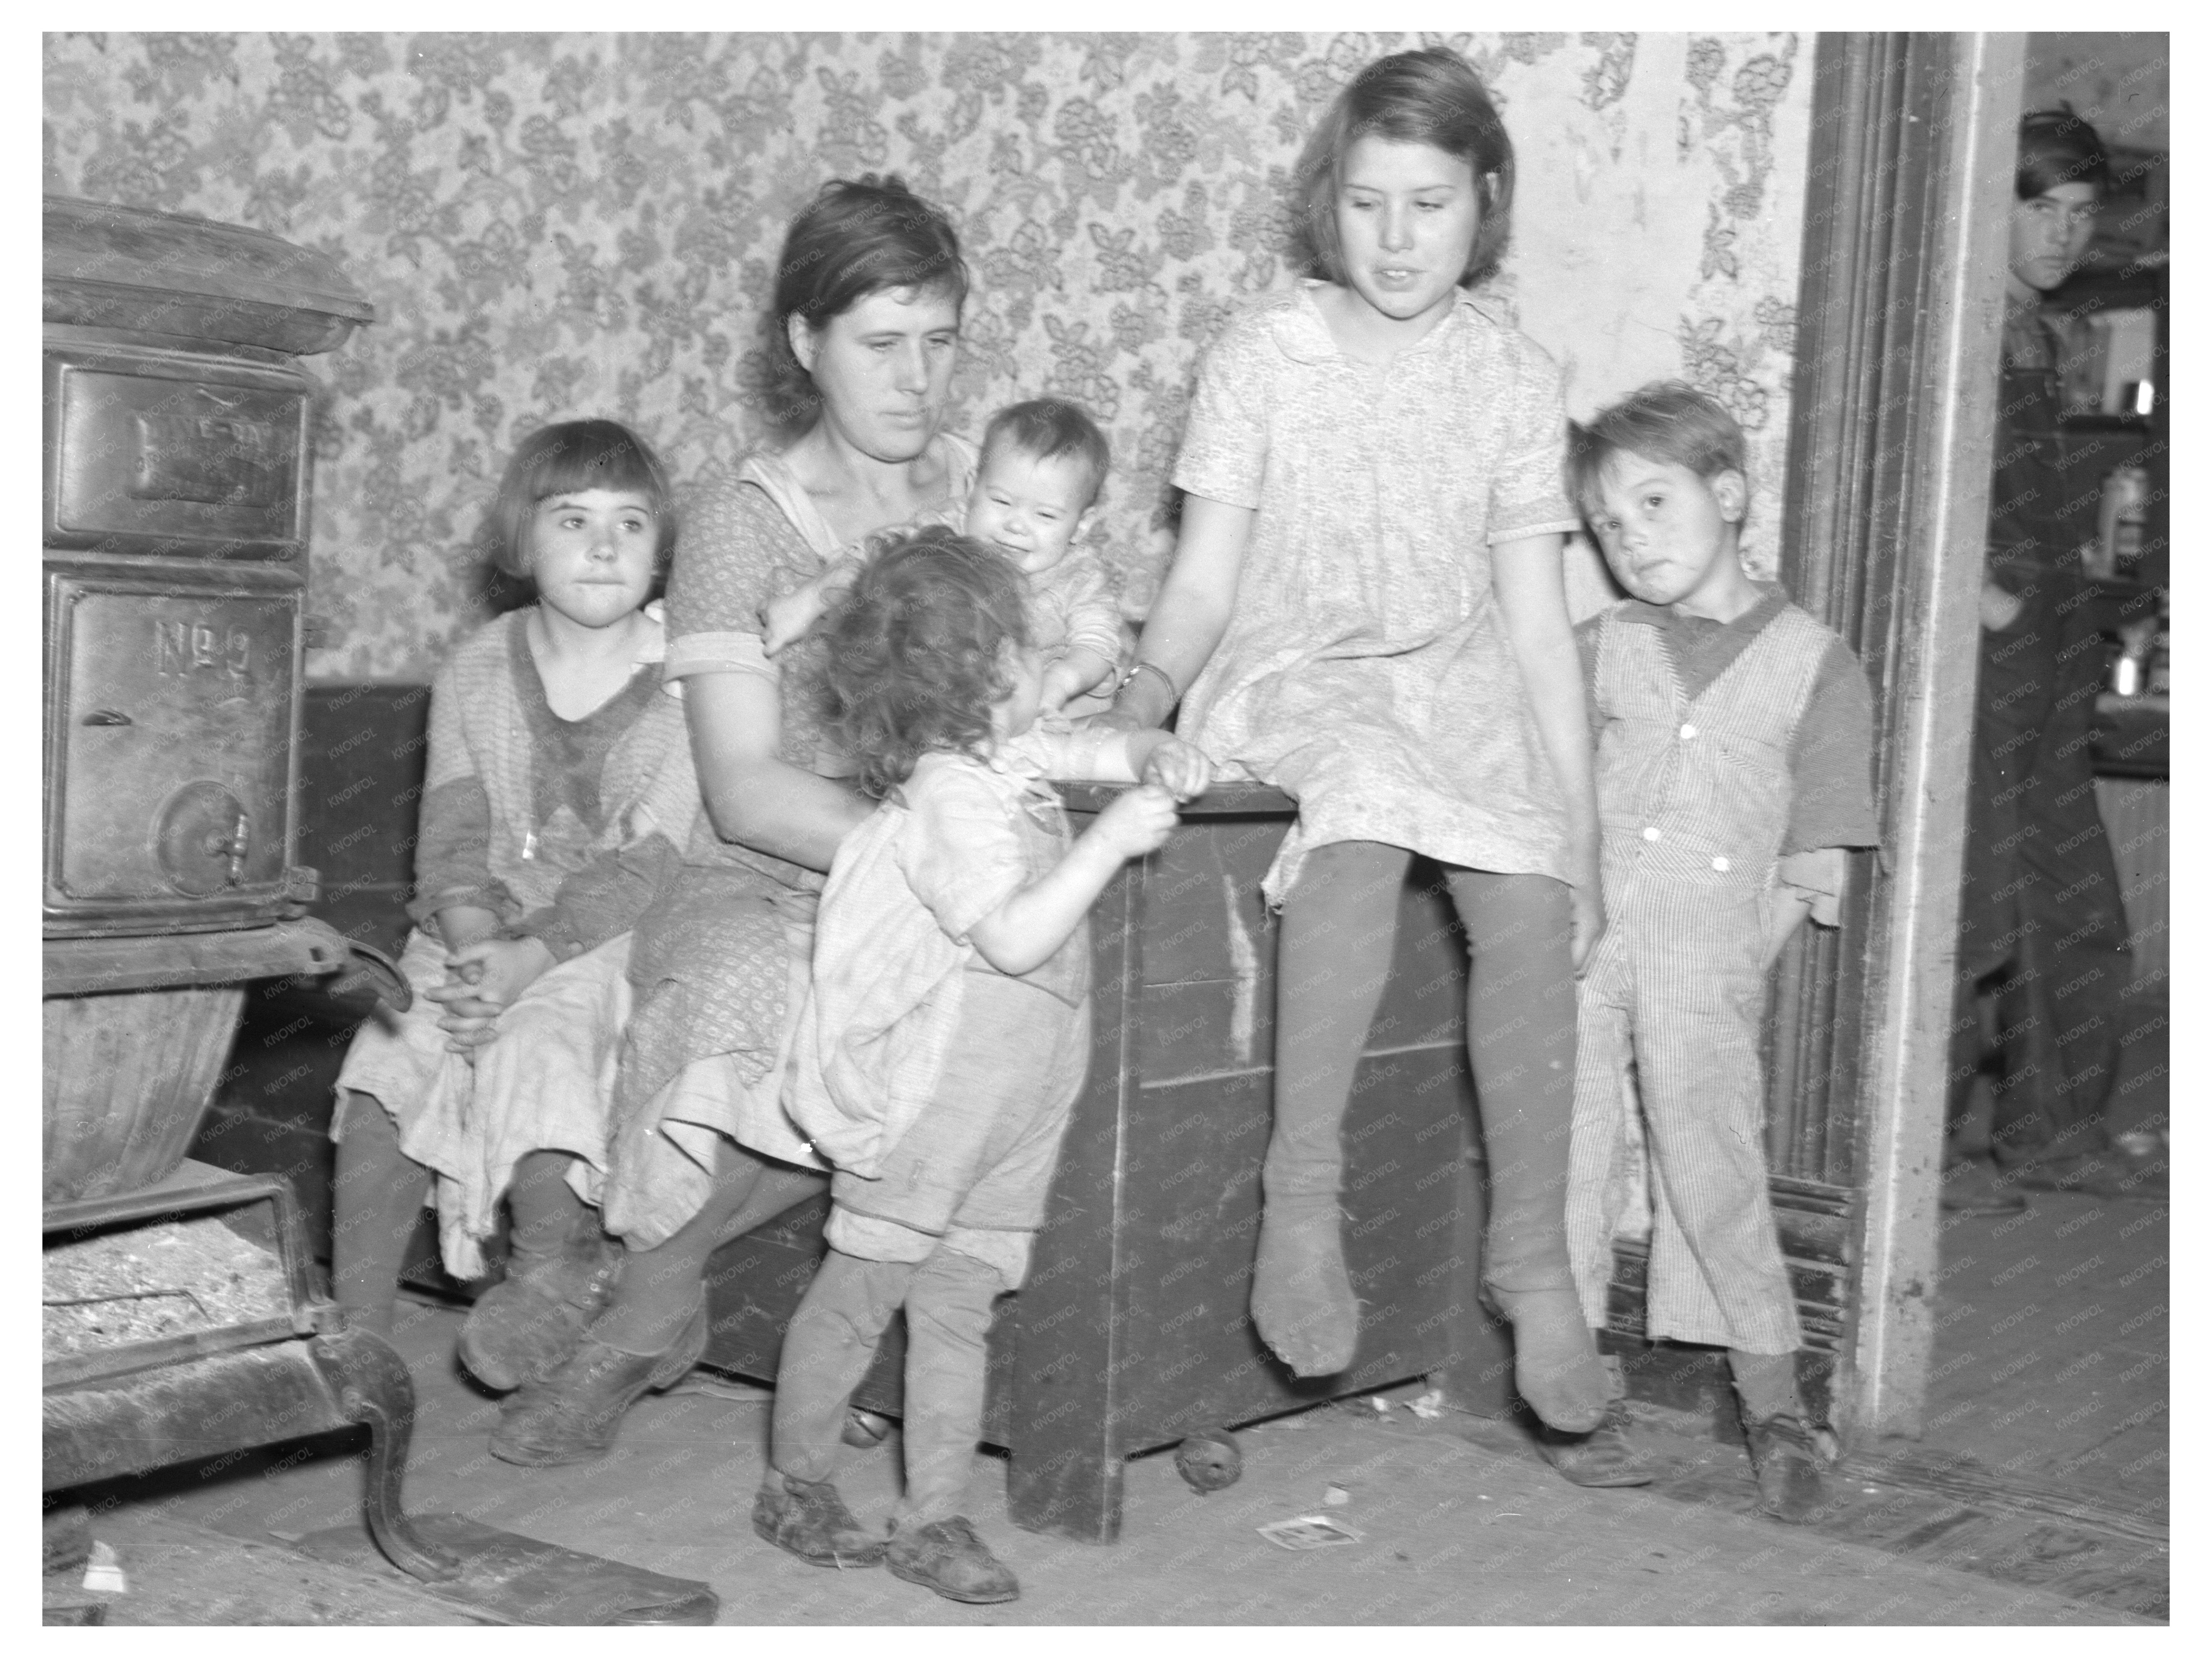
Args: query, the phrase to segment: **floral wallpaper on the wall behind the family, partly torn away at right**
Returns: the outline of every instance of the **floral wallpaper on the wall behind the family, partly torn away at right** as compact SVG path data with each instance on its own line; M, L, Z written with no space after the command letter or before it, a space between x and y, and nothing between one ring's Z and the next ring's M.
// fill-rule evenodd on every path
M480 520L546 420L633 422L679 480L765 427L761 314L790 214L896 170L975 274L953 429L1091 405L1104 555L1141 617L1199 349L1290 281L1283 186L1369 57L1467 53L1520 155L1493 298L1568 407L1679 374L1752 438L1772 568L1812 102L1805 35L126 35L44 38L46 190L336 254L378 323L310 358L321 679L418 679L482 619ZM1604 597L1582 550L1577 608Z

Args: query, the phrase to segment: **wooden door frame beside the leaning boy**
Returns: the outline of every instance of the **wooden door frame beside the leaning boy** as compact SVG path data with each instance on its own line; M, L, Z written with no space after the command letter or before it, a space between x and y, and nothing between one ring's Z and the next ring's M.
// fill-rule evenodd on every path
M1847 1444L1918 1435L2026 35L1823 35L1783 579L1874 683L1882 853L1776 986L1776 1174L1854 1187Z

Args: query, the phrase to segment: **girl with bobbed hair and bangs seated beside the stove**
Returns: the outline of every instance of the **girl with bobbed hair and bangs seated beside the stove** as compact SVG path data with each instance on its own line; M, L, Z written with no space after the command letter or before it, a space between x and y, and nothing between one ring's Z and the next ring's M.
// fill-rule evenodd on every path
M392 1331L400 1251L436 1180L447 1271L484 1273L500 1198L507 1278L462 1362L515 1388L604 1302L608 1099L630 926L699 816L684 707L661 690L668 478L613 420L515 449L493 557L538 601L465 639L431 685L407 1012L378 1010L338 1070L334 1282Z

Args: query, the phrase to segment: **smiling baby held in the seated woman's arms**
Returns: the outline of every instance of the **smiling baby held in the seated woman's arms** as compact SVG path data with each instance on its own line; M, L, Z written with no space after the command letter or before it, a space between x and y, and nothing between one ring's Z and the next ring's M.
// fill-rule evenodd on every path
M1106 433L1064 398L1015 402L991 416L969 493L967 535L995 546L1029 577L1031 623L1046 670L1040 707L1093 714L1095 692L1121 659L1121 612L1097 555L1077 546L1097 517L1110 451ZM812 581L763 606L765 648L801 639L852 586L863 559L847 555ZM1110 690L1110 688L1108 688Z

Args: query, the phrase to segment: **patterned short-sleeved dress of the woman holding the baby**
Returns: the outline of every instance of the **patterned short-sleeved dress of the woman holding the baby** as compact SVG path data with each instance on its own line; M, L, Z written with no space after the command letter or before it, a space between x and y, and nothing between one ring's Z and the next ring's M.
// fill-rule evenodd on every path
M940 433L936 447L945 506L907 528L958 526L975 484L973 444ZM686 500L668 581L664 679L765 679L779 696L779 758L818 776L852 772L825 725L823 646L807 637L770 661L759 610L847 550L858 544L836 537L783 458L757 453L732 482ZM606 1227L630 1247L666 1242L699 1211L721 1136L823 1167L781 1103L821 886L812 869L721 840L701 814L684 869L639 917L604 1200Z

